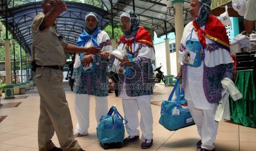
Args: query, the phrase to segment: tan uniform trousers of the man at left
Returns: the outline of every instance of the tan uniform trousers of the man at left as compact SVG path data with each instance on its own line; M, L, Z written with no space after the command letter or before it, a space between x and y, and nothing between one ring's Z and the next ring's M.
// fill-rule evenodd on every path
M62 85L62 71L37 68L34 77L40 95L39 150L48 151L55 147L51 141L54 132L62 150L79 150L81 147L74 140L72 119Z

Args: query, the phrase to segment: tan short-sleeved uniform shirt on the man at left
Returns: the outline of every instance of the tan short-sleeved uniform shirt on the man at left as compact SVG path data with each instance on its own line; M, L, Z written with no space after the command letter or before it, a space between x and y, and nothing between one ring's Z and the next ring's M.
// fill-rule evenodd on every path
M66 55L64 48L67 42L58 38L59 34L55 26L39 30L45 14L40 13L32 22L32 48L31 57L34 57L36 64L40 66L64 66L66 63ZM33 55L35 54L35 55Z

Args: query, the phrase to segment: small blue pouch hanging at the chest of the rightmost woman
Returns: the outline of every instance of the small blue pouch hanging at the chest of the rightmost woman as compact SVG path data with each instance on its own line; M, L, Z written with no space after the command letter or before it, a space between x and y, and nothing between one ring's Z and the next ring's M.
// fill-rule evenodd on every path
M185 52L182 62L185 65L199 67L201 65L202 58L204 59L204 49L198 39L191 39L192 32L190 35L190 39L186 41Z

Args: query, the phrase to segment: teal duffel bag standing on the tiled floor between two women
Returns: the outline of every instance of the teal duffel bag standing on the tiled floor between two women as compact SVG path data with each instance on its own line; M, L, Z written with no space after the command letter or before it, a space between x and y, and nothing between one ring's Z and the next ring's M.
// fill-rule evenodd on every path
M106 116L102 116L97 125L97 137L104 149L120 148L123 146L124 124L127 120L123 119L117 108L112 106Z

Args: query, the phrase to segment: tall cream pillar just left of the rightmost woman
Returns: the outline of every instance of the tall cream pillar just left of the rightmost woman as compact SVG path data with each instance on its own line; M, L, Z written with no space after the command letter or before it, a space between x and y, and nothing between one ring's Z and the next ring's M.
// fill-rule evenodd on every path
M177 62L177 74L181 64L178 62L179 57L179 44L181 44L181 38L184 31L184 20L183 20L183 0L172 0L173 7L175 8L175 40L176 40L176 62Z

